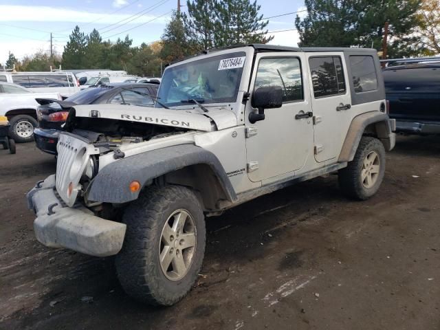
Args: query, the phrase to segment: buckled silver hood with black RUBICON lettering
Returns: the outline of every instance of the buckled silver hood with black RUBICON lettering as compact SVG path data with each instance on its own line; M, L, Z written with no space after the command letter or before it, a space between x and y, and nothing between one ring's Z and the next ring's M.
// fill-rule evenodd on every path
M236 116L225 107L212 107L207 113L198 109L176 110L124 104L76 105L74 109L76 117L127 120L206 132L214 130L213 123L217 129L236 126Z

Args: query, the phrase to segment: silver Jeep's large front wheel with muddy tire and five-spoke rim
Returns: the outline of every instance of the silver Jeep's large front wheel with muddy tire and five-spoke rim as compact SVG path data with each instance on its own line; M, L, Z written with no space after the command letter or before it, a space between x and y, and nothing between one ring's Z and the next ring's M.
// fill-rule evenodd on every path
M197 280L205 252L201 203L188 188L151 188L124 212L116 271L125 292L151 305L173 305Z

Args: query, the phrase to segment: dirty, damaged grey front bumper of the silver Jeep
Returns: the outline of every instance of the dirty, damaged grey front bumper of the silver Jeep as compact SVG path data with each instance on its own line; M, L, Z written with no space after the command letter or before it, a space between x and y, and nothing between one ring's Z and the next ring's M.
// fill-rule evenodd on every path
M126 225L96 217L83 206L65 206L56 194L55 175L32 188L27 198L36 213L36 239L44 245L91 256L111 256L121 250Z

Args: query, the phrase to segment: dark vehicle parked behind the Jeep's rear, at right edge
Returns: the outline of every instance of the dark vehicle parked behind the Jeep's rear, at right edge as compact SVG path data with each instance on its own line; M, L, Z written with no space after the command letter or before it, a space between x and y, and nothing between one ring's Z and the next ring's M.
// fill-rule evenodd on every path
M386 67L382 74L396 131L440 133L440 63Z

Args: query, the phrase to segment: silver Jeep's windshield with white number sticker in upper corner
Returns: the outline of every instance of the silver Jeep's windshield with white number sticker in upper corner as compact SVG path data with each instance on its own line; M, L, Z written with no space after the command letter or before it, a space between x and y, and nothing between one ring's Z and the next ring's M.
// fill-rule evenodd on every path
M234 52L166 69L157 96L167 106L188 100L235 102L245 56L245 52Z

